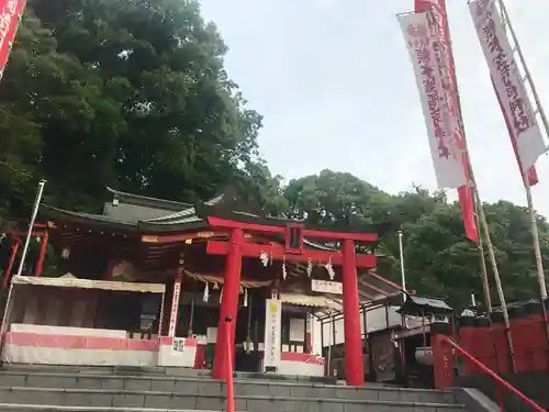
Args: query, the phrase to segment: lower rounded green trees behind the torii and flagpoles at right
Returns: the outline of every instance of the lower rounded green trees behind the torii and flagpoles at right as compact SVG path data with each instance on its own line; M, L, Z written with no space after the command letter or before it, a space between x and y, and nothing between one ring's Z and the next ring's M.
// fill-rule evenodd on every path
M292 180L284 189L289 214L307 223L347 230L360 223L386 221L392 230L377 247L378 271L400 279L396 230L404 232L407 286L418 293L447 298L456 308L467 305L471 292L482 297L478 247L464 237L460 207L444 192L422 188L390 196L349 174L323 170ZM485 204L498 270L506 298L538 294L527 210L508 202ZM544 256L549 256L549 225L538 219ZM546 260L549 260L546 258ZM486 261L488 255L486 255ZM549 261L545 261L549 267ZM489 265L493 302L498 302Z

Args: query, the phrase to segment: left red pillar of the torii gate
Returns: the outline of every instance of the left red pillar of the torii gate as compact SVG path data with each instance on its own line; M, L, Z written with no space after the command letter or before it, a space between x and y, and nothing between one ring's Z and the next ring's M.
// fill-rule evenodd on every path
M236 315L238 312L238 288L240 286L243 243L243 230L233 229L228 241L228 254L225 264L223 296L220 308L220 322L217 324L217 342L215 343L215 355L212 368L213 379L224 379L227 377L227 371L229 370L227 357L225 356L227 347L233 348L233 356L231 358L235 358L234 338ZM232 319L232 322L225 322L225 318L227 316ZM228 329L228 331L226 329ZM226 342L227 332L228 339L231 339L228 345Z

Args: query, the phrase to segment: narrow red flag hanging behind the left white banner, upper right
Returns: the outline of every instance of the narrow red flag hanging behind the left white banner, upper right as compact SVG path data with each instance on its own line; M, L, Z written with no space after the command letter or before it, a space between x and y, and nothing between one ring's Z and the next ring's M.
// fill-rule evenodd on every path
M456 70L453 67L453 58L452 52L450 47L450 38L449 38L449 26L448 26L448 16L446 13L446 1L445 0L415 0L415 12L421 13L428 10L433 10L436 21L439 24L439 41L442 42L442 49L446 49L446 68L449 74L449 88L451 96L451 105L456 110L456 115L460 116L460 108L458 104L458 93L456 87ZM460 130L458 144L460 148L463 149L463 133ZM469 156L469 154L466 154ZM463 156L463 175L466 176L467 181L469 181L469 167L467 157ZM470 238L472 242L479 242L479 233L477 231L477 222L474 219L474 205L473 205L473 196L472 190L469 185L464 185L458 189L459 194L459 203L461 204L461 216L463 219L463 225L466 229L466 236Z

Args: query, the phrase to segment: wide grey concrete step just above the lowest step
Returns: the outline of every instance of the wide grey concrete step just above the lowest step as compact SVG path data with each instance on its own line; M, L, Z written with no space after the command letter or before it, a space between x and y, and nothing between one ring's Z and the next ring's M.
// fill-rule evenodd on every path
M75 390L160 391L193 396L223 397L225 383L205 377L123 376L96 374L53 374L0 371L0 387L51 388ZM250 379L234 380L235 396L262 396L283 398L345 399L357 401L401 401L453 404L451 391L408 389L368 385L354 388L339 385L283 382ZM1 398L0 398L1 400Z

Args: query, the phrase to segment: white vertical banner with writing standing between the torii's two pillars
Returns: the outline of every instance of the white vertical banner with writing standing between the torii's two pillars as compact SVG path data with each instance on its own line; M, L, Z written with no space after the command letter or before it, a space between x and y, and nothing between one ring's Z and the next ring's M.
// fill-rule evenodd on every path
M282 324L282 302L277 299L267 299L265 302L265 352L264 371L278 370L280 367Z

